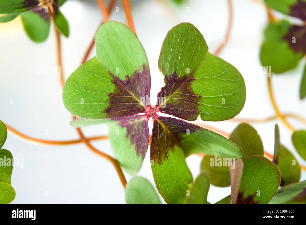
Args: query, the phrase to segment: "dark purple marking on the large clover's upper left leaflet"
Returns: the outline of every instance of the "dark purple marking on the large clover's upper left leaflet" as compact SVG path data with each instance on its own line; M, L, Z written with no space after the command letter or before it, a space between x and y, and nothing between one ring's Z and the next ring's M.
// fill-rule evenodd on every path
M110 72L109 72L110 73ZM115 84L114 92L109 94L109 106L102 112L107 118L147 112L150 102L151 78L150 70L143 65L142 71L135 71L132 76L120 80L110 73ZM141 104L143 103L143 105Z

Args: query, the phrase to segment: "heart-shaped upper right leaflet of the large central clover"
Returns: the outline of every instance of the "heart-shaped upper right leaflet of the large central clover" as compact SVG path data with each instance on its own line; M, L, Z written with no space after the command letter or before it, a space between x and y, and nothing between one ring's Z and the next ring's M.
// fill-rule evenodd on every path
M172 28L163 42L159 69L165 86L158 111L196 120L221 121L237 115L245 102L245 84L238 70L208 52L200 31L189 23Z

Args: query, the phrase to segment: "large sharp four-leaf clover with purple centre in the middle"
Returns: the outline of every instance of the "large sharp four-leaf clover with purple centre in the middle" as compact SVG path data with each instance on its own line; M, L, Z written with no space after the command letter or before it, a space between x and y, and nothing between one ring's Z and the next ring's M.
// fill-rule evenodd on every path
M72 126L107 123L116 159L135 175L148 145L159 193L167 203L184 203L192 186L185 158L194 153L241 158L241 149L210 130L170 117L218 121L238 114L245 101L241 74L208 53L202 34L192 24L171 29L162 45L159 68L165 87L155 107L150 104L150 70L144 49L125 25L109 21L95 37L97 54L73 72L63 89L63 102L80 117ZM142 113L143 115L140 115Z

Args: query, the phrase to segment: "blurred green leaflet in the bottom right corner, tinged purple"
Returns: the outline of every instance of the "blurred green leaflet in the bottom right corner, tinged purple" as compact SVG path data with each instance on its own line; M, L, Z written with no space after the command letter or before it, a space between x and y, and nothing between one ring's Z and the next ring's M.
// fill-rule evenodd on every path
M306 204L306 181L282 187L269 204Z

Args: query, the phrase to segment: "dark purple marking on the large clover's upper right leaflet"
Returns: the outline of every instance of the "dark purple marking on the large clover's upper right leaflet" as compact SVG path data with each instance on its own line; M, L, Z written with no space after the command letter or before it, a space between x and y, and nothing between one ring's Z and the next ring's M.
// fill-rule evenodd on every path
M191 83L194 80L192 77L193 73L188 78L186 75L183 78L178 78L176 73L165 76L165 86L157 95L156 105L159 112L190 121L197 119L201 96L192 91ZM164 99L166 99L165 102ZM180 107L177 107L178 105Z

